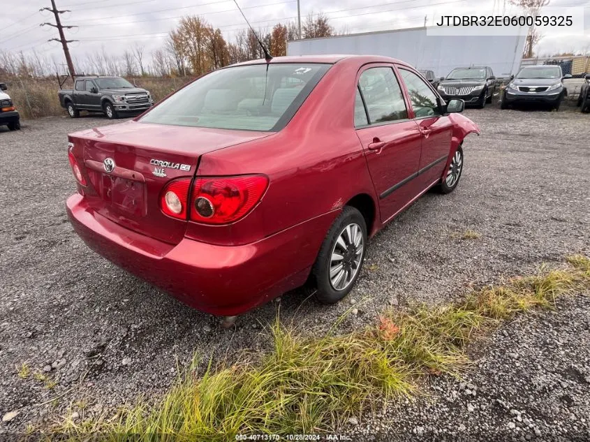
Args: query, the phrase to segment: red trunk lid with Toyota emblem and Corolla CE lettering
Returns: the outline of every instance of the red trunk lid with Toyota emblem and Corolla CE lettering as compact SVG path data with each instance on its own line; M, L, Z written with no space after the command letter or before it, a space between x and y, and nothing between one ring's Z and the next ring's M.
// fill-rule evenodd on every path
M69 135L89 178L89 205L121 226L157 240L177 244L186 220L163 214L164 187L193 177L202 154L270 133L165 126L129 121Z

